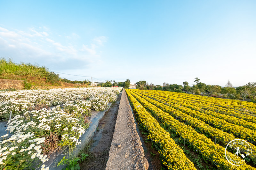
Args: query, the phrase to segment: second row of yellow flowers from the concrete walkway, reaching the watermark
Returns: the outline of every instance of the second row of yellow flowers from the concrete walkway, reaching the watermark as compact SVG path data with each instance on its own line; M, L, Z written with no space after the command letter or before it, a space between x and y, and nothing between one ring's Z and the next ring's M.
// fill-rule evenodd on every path
M131 92L131 91L130 91ZM210 159L219 169L255 169L252 166L244 164L242 166L233 166L225 159L224 151L225 149L219 144L214 144L210 139L204 135L197 133L193 128L179 121L175 120L171 115L165 113L158 107L147 102L145 99L139 97L132 92L132 95L136 97L143 105L143 107L150 110L154 115L156 115L163 123L168 125L170 128L176 131L180 137L186 139L190 144L198 149L204 157Z

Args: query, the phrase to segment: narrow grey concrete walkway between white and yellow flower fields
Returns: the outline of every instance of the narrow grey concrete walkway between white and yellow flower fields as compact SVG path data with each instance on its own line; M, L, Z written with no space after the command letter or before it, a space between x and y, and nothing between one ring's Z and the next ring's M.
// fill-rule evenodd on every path
M144 158L131 107L123 89L106 170L144 170L145 167L148 168L148 161Z

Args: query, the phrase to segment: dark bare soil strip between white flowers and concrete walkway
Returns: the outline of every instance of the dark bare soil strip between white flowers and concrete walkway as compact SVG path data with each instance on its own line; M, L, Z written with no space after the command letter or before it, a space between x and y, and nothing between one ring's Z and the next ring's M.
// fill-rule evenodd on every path
M100 120L97 133L90 142L90 156L80 163L81 170L103 170L106 168L108 153L115 129L121 94Z

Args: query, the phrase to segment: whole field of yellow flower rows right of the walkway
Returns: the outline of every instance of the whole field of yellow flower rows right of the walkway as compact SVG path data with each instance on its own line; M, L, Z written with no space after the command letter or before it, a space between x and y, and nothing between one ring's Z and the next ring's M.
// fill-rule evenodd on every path
M256 104L166 91L126 93L140 128L168 169L256 169ZM234 139L252 148L241 166L225 158Z

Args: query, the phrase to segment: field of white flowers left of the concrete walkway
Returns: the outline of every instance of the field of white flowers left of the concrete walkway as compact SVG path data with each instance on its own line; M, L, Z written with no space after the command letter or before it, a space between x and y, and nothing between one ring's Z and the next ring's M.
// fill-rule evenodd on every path
M0 169L49 169L47 156L74 149L89 127L91 109L108 109L122 88L68 88L0 92L0 120L8 121L0 141ZM9 120L12 111L11 120ZM9 133L10 134L10 133Z

